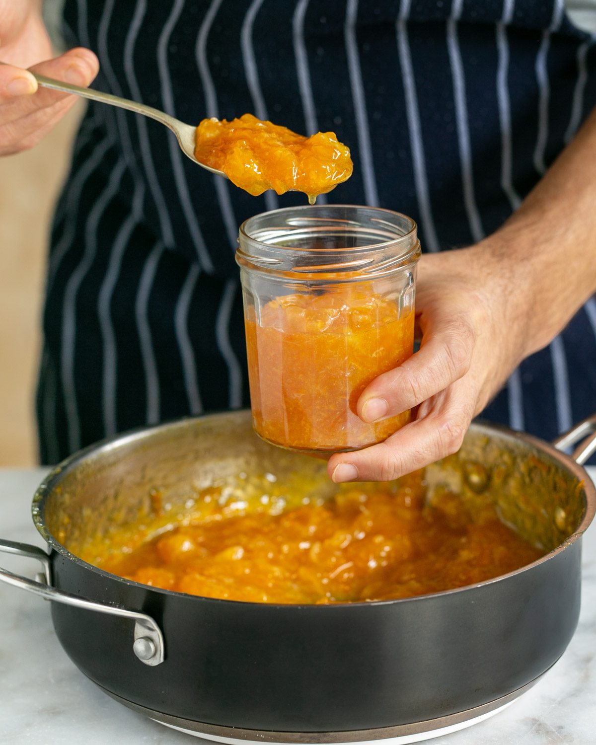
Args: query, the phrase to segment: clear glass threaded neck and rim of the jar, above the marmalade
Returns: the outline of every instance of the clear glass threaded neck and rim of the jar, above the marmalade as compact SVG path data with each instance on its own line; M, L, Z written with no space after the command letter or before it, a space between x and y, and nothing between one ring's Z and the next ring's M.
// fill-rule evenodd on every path
M335 216L333 212L339 215ZM349 217L350 213L356 215L358 212L361 213L360 221ZM365 217L368 220L365 221ZM270 218L270 225L266 224L267 218ZM317 227L329 238L335 225L338 232L343 230L346 235L351 232L352 235L358 234L359 238L362 235L374 238L376 235L381 239L346 247L288 246L283 243L287 244L290 238L297 242L307 236L312 238L317 234ZM419 259L421 252L416 232L416 222L408 215L382 207L349 204L282 207L261 212L241 224L236 261L247 269L285 277L298 274L302 279L306 276L323 279L326 274L340 272L344 281L363 276L372 279ZM308 261L301 264L306 255ZM293 261L292 257L299 261Z

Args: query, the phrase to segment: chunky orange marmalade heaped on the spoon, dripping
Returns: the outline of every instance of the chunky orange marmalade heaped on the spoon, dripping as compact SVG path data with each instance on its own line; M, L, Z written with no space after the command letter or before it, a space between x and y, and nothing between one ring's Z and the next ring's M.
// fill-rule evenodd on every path
M268 188L277 194L296 190L308 194L311 204L352 175L349 149L335 133L305 137L252 114L203 119L194 156L255 197Z

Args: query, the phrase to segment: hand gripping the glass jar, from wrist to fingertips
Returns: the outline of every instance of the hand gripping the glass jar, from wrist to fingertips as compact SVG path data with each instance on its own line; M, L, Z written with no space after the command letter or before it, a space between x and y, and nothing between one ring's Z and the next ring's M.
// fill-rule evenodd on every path
M460 448L472 418L527 353L522 304L528 294L512 271L485 244L422 256L419 352L379 375L357 405L364 422L419 408L410 424L383 443L333 455L333 481L389 481Z

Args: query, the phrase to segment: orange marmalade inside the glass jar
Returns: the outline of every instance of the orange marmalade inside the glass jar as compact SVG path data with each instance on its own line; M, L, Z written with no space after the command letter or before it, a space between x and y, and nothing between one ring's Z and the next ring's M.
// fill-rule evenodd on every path
M254 428L274 445L302 451L363 448L387 439L408 411L366 424L364 388L413 352L414 314L394 299L339 286L289 294L246 311Z

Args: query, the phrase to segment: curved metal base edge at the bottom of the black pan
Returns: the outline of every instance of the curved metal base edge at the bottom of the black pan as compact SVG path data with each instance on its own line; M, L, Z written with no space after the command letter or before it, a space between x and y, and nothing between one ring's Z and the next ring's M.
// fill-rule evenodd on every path
M466 729L474 724L478 724L489 717L503 711L510 706L522 694L532 688L539 679L531 680L522 688L517 688L507 696L490 701L489 703L469 708L466 711L459 711L457 714L448 714L446 717L438 717L424 722L413 722L393 727L381 727L379 729L358 729L350 732L262 732L258 729L240 729L237 727L224 727L215 724L203 722L194 722L193 720L183 719L181 717L172 717L170 714L162 714L159 711L139 706L136 703L127 701L124 698L104 690L109 696L116 701L124 704L139 714L145 714L146 717L153 721L165 724L171 729L177 729L179 732L186 732L187 735L205 738L218 743L229 745L245 745L247 743L267 743L270 745L287 745L297 743L300 745L318 745L320 743L331 743L341 745L344 743L383 743L384 745L406 745L409 743L418 743L432 738L438 738L440 735L448 735L451 732L457 732L460 729Z

